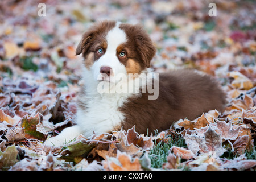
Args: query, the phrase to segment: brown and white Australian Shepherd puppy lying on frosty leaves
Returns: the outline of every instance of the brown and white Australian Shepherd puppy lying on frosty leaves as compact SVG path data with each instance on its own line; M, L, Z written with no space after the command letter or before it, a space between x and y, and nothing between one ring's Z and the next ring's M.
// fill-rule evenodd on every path
M208 75L179 70L153 73L156 53L150 36L136 24L103 21L84 33L76 55L84 57L75 125L49 138L61 146L82 134L130 129L141 134L169 129L179 119L196 119L225 106L225 94Z

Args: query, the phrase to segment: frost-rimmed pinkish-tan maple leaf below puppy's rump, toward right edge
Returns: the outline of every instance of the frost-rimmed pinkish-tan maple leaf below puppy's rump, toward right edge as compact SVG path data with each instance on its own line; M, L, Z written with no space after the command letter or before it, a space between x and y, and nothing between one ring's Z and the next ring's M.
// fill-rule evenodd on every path
M240 131L240 127L237 127L237 129L233 130L232 122L226 123L225 121L218 121L218 119L215 121L217 122L217 128L221 131L221 137L223 139L236 140Z

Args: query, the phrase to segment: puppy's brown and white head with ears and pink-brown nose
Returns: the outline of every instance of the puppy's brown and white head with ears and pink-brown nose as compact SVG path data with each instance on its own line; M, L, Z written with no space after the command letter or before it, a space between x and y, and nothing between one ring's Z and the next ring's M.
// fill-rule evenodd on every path
M140 74L150 67L155 47L142 26L104 21L94 24L77 46L76 55L97 81L117 83L118 74Z

